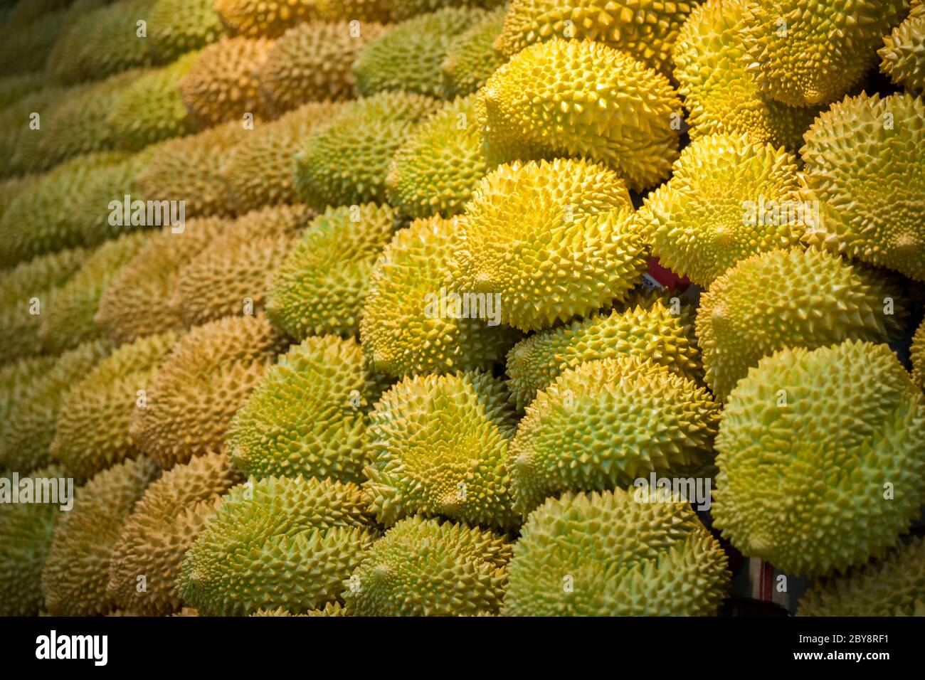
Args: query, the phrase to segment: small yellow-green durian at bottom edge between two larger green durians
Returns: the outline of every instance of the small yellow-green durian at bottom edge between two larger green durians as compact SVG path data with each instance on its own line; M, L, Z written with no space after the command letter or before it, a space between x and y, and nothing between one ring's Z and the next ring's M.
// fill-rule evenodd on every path
M351 616L498 613L510 559L492 531L410 517L366 551L342 598Z

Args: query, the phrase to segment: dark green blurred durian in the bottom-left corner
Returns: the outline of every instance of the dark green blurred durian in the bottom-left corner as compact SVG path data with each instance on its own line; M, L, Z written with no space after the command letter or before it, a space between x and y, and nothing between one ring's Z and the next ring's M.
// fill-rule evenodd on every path
M12 484L9 476L3 477L9 480L5 484ZM31 477L35 488L43 483L39 480L53 478L60 485L63 474L53 466L36 470ZM41 612L42 569L55 527L65 514L51 503L0 505L0 616L38 616Z

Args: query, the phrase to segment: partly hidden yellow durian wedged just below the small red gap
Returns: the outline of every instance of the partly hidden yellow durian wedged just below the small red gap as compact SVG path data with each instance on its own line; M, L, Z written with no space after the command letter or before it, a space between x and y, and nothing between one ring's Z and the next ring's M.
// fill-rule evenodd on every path
M700 381L694 310L680 298L635 295L609 314L540 331L513 346L507 357L508 389L518 409L532 402L567 368L601 359L635 356Z

